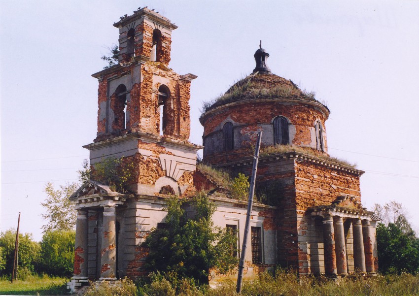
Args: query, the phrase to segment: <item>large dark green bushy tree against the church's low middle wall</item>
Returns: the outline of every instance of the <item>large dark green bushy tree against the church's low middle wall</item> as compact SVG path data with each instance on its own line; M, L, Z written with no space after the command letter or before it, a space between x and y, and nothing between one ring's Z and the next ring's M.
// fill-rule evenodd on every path
M238 259L231 246L237 245L237 236L213 226L215 208L204 193L189 200L168 199L167 227L152 230L143 244L149 248L146 268L200 283L208 282L210 268L223 273L234 268Z

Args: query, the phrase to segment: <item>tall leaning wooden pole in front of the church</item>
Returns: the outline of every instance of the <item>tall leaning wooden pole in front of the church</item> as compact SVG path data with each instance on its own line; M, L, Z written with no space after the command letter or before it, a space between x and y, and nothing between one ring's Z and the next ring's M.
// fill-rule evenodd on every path
M236 287L236 292L237 293L241 293L242 292L244 258L246 256L247 236L249 234L250 216L252 214L254 185L255 185L255 180L256 180L257 162L259 160L259 149L260 149L260 140L261 140L261 137L262 137L262 131L260 131L258 133L258 135L257 135L255 153L254 153L254 157L253 157L252 178L251 178L251 181L250 181L249 201L247 203L246 224L244 225L244 236L243 236L243 244L242 244L242 254L240 255L239 273L237 275L237 287Z

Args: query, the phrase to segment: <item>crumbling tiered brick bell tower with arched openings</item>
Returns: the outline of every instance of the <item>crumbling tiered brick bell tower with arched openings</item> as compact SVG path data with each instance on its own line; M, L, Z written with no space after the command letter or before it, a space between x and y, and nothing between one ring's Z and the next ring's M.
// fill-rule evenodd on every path
M153 196L164 187L182 195L201 146L188 141L190 84L197 76L168 67L177 26L146 7L113 26L119 29L119 64L92 75L99 99L97 137L84 146L90 163L124 157L135 166L134 193Z

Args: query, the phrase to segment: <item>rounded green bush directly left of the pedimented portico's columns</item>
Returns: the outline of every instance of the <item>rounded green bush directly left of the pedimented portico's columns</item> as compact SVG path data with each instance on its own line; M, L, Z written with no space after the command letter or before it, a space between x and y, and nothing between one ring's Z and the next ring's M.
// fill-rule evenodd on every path
M47 231L40 243L38 271L56 276L71 276L74 267L74 231Z

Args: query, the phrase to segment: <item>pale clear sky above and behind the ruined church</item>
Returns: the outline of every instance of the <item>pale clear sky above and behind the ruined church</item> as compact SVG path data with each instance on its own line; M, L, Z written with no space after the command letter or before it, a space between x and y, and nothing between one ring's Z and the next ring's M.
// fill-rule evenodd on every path
M401 202L419 230L419 1L0 1L0 230L41 239L47 181L76 181L96 136L92 73L139 6L168 17L170 67L193 73L191 138L202 101L254 68L262 40L279 76L327 102L329 153L357 163L362 202Z

